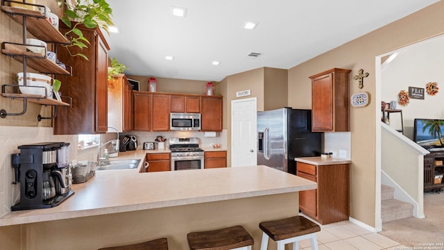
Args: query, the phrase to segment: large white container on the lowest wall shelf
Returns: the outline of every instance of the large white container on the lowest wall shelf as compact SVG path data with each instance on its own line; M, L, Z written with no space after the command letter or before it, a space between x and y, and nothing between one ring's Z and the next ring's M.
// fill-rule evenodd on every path
M38 94L41 96L45 96L45 88L46 94L48 98L53 98L53 78L49 76L45 76L42 74L35 73L26 73L26 86L24 86L24 74L23 72L19 72L17 74L19 78L19 89L22 94ZM30 87L34 86L34 87ZM44 87L44 88L35 88L35 86Z

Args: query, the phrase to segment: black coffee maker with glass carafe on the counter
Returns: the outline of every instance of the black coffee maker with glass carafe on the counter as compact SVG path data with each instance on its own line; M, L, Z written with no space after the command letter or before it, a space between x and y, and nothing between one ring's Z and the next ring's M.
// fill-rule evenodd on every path
M42 142L19 146L12 154L15 182L20 183L20 202L15 210L52 208L74 194L69 187L69 143ZM68 172L67 172L68 171Z

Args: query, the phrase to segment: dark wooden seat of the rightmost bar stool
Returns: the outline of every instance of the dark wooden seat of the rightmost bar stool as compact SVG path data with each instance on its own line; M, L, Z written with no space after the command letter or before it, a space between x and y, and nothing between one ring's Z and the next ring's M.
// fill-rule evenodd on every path
M274 241L321 231L318 224L302 216L259 223L259 228Z

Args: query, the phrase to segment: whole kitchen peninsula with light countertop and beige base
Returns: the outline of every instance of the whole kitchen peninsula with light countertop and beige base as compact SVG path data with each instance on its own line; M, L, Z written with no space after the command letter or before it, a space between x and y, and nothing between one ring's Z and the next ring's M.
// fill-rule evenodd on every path
M241 224L259 249L259 222L297 215L298 192L316 183L259 165L98 171L73 189L55 208L0 217L2 247L99 249L166 237L170 249L188 249L191 231Z

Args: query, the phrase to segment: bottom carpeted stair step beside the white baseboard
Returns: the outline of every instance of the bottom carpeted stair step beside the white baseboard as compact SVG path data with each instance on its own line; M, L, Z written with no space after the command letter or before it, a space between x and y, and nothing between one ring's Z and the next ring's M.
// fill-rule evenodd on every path
M396 199L381 201L382 222L391 222L413 216L413 205Z

